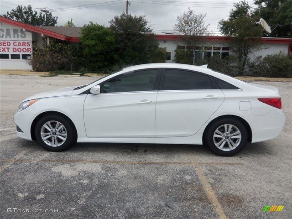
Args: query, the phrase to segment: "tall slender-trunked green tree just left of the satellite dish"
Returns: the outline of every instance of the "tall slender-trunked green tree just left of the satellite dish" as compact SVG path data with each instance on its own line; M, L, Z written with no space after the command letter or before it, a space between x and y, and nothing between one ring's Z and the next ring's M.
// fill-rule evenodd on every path
M230 37L230 50L237 56L238 73L243 74L249 55L260 49L263 28L257 24L259 17L251 12L245 1L234 4L227 20L218 24L220 32Z

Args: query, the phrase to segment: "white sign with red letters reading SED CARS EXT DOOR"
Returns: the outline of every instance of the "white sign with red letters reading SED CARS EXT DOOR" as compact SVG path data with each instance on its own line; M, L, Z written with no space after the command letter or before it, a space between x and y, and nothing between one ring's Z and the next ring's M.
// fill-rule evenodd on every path
M31 54L32 42L0 40L0 52L2 54Z

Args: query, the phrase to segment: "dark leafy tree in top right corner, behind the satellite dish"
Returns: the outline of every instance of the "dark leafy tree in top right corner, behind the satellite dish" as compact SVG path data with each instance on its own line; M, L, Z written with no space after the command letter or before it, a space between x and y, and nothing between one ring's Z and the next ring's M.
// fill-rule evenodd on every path
M273 30L269 37L292 37L292 1L291 0L255 0L258 6L255 14L259 15Z

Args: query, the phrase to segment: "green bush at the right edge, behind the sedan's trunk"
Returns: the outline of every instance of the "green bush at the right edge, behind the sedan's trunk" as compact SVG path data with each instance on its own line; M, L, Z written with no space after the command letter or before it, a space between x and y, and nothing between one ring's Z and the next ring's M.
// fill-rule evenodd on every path
M252 76L291 78L292 56L283 53L267 55L264 58L259 56L248 63L248 68Z

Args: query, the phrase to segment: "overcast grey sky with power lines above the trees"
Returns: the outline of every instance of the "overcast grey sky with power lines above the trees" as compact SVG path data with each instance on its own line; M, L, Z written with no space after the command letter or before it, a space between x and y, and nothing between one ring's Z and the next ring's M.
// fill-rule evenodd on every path
M171 32L178 15L190 7L196 14L206 13L206 24L215 35L219 35L217 24L227 19L236 0L131 0L128 13L146 15L154 32ZM252 0L247 0L253 5ZM126 0L0 0L0 13L6 14L17 5L31 5L34 10L51 9L58 16L58 26L63 26L72 18L76 26L83 26L90 21L100 25L109 25L109 20L126 12Z

